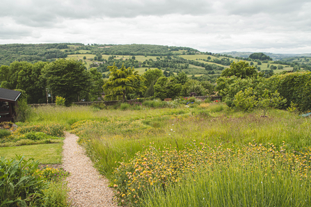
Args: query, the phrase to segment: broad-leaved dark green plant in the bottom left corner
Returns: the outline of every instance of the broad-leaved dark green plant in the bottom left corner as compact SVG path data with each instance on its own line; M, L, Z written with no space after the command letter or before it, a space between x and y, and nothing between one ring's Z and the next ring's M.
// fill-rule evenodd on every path
M48 188L45 179L33 176L38 169L38 161L0 159L0 201L3 207L43 206L44 190Z

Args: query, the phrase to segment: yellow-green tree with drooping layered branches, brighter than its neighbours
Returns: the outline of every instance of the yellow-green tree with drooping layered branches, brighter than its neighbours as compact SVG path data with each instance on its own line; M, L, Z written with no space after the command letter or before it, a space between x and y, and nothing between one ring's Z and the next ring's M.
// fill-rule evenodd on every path
M122 95L123 101L127 93L131 92L143 92L147 87L141 85L141 82L145 81L145 78L138 75L138 72L133 68L125 68L122 64L122 67L118 69L113 63L113 66L108 67L110 70L109 82L105 83L103 86L106 90L111 90L112 94L107 96L119 96Z

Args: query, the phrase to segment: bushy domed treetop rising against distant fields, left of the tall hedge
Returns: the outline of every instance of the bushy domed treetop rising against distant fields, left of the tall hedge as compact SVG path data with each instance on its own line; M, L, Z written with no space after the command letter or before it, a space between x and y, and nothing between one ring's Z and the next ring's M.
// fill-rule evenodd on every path
M223 70L221 76L237 76L238 78L247 78L257 76L256 68L249 66L246 61L239 61L239 63L231 63L230 67Z

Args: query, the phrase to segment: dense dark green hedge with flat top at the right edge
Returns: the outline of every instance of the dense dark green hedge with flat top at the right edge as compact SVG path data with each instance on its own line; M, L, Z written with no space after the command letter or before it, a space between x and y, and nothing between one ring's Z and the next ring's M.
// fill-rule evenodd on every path
M298 104L301 112L311 109L311 72L296 72L272 76L269 78L271 90L278 90L287 102L282 105L288 108L291 103Z

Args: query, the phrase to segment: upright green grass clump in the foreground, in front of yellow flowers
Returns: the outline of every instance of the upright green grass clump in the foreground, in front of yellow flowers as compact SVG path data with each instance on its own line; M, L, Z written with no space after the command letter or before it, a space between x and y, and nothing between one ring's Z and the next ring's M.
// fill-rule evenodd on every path
M268 160L255 160L260 162ZM141 206L310 206L311 184L298 172L284 170L280 163L268 172L256 167L245 169L231 161L200 172L186 174L178 185L164 191L157 186L147 191ZM249 171L252 170L250 173ZM276 173L280 172L280 173Z

